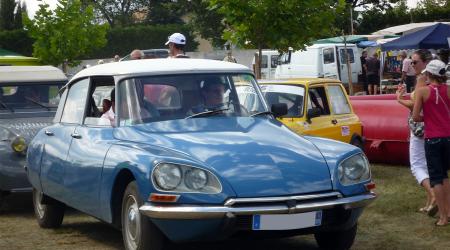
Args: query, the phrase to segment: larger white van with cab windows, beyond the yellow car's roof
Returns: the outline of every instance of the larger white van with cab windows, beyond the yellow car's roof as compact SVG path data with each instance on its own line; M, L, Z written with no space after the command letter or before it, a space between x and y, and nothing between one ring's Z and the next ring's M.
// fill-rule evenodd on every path
M347 44L352 83L358 82L361 60L355 44ZM275 78L320 77L334 78L348 84L344 44L314 44L304 51L289 51L280 58Z

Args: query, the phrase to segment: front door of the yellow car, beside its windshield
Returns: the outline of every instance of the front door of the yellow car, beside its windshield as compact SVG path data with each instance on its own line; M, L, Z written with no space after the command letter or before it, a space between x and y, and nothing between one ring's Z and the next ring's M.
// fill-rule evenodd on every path
M331 114L325 84L309 87L306 112L312 108L318 108L320 114L317 117L309 118L309 121L304 125L303 133L305 135L338 139L339 133L336 130L335 121Z

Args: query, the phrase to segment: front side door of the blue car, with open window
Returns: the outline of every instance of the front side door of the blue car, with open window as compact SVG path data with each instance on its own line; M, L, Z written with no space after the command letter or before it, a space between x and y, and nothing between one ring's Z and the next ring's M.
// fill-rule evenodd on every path
M96 88L99 82L102 82L102 86ZM113 128L109 120L93 112L94 108L98 108L94 107L98 101L94 97L100 96L96 90L104 91L102 87L105 82L110 84L112 90L112 77L91 78L91 94L83 112L85 118L72 134L67 156L68 165L64 173L64 186L68 191L67 195L71 197L68 205L97 217L100 217L99 192L103 161L113 139Z

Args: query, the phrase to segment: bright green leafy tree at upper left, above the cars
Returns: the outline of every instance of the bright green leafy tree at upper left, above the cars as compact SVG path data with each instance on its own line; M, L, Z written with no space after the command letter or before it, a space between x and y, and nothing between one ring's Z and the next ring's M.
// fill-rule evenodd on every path
M106 25L93 22L92 6L83 7L80 0L59 0L54 11L41 3L33 20L23 15L25 28L33 44L33 56L45 64L59 65L67 60L70 66L96 48L106 44Z

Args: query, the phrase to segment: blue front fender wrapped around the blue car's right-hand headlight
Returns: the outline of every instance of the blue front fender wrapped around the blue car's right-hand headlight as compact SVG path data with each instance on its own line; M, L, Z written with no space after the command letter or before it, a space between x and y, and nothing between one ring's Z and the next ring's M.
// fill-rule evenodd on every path
M339 190L344 196L360 194L367 191L364 185L344 186L338 180L337 169L341 161L352 155L362 153L360 148L348 143L322 137L305 136L305 138L317 146L325 158L328 166L330 166L331 180L333 182L334 190ZM367 180L361 184L367 184L369 182L371 182L371 180Z

